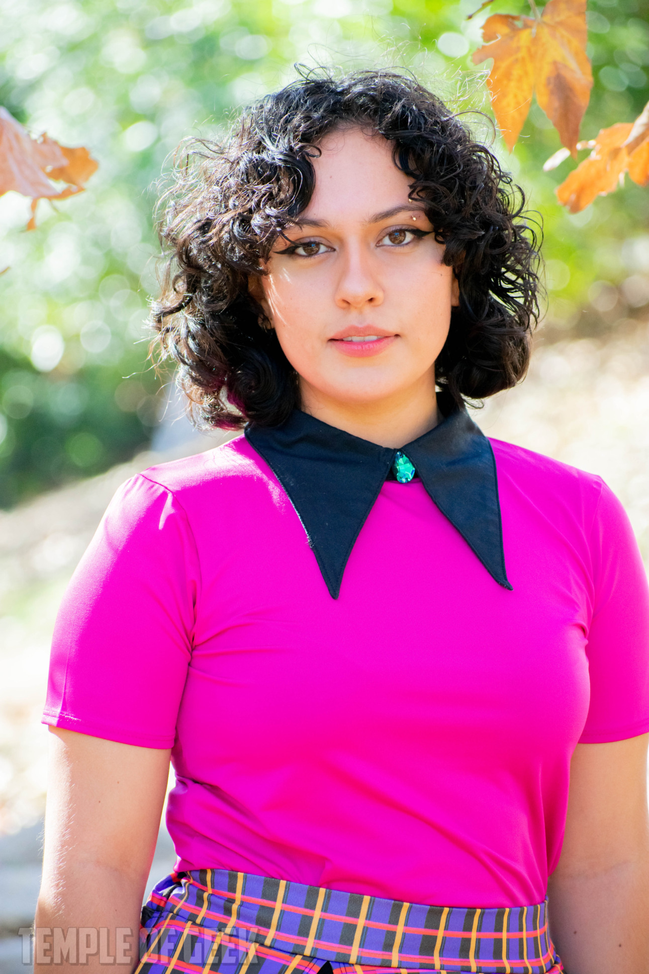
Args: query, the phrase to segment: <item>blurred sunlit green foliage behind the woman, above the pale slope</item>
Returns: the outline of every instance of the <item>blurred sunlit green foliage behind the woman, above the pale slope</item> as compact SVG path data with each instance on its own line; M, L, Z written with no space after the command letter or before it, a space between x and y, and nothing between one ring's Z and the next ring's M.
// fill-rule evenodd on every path
M410 67L459 110L486 110L470 54L494 12L523 0L11 0L0 3L0 104L30 131L86 145L100 169L56 210L0 199L0 506L126 459L163 390L147 364L156 289L152 211L181 138L223 132L296 61ZM649 97L649 0L589 0L595 89L582 137ZM514 154L493 140L545 223L547 340L631 327L649 302L649 191L632 183L571 216L544 173L559 136L535 104ZM54 364L53 364L54 363Z

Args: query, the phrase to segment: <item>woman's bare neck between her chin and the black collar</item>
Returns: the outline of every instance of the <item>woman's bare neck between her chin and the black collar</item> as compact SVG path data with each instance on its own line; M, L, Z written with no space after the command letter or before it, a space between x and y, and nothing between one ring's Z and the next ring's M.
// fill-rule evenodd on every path
M434 381L420 389L393 393L370 402L333 399L301 381L304 412L329 426L367 439L379 446L399 448L432 430L440 421Z

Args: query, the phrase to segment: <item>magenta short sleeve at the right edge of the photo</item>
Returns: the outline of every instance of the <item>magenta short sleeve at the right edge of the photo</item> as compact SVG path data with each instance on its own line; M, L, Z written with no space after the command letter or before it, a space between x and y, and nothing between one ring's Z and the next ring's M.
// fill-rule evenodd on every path
M605 485L591 553L591 703L580 742L595 744L649 731L649 586L629 518Z

